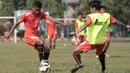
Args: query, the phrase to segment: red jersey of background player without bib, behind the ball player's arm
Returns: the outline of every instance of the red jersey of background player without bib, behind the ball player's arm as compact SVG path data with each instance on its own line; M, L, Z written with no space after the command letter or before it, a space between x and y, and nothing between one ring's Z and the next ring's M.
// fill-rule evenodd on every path
M47 21L46 27L48 30L48 34L55 33L56 32L56 25L52 21Z

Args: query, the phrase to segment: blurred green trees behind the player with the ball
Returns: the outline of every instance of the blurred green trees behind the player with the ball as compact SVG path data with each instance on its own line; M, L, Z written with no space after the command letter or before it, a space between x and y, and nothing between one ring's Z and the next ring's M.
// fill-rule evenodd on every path
M15 10L28 10L32 8L32 4L36 0L0 0L0 16L14 16ZM61 3L61 0L39 0L42 2L42 10L49 11L54 17L64 16L65 7ZM13 24L13 19L1 19L0 25L3 25L5 28ZM6 25L7 26L6 26Z

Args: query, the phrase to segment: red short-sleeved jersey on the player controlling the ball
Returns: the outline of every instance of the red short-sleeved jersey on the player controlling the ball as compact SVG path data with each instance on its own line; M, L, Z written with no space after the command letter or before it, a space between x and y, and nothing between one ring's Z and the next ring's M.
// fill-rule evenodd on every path
M25 35L24 38L29 36L38 36L38 26L41 19L46 19L47 15L40 12L39 15L34 16L32 10L25 12L19 19L19 22L24 22Z

